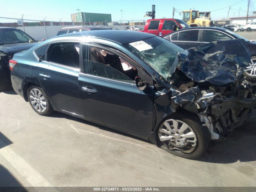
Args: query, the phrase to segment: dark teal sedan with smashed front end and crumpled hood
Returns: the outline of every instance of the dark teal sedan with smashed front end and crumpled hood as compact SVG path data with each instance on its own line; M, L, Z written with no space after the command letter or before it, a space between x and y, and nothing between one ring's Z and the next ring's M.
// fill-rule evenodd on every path
M242 40L184 51L152 34L101 30L46 40L15 54L10 69L40 115L63 112L195 159L256 107L242 76L249 62Z

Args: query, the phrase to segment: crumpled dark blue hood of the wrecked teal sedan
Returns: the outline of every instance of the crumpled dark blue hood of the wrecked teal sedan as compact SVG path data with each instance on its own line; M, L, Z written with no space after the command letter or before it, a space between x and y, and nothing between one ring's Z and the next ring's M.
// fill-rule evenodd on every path
M194 82L223 86L240 78L250 58L244 40L216 41L179 53L170 74L178 67Z

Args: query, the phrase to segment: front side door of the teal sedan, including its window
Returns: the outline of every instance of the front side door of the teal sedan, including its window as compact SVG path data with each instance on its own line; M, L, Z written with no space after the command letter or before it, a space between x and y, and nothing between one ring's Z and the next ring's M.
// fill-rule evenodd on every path
M78 80L84 118L148 139L153 121L153 86L148 86L144 92L138 90L132 76L124 74L120 68L117 70L116 64L121 64L119 58L122 57L135 67L136 70L131 70L138 74L137 66L117 52L110 52L113 57L117 56L112 60L115 65L112 65L107 61L108 56L102 58L100 51L92 52L104 47L94 46L80 46L83 69Z

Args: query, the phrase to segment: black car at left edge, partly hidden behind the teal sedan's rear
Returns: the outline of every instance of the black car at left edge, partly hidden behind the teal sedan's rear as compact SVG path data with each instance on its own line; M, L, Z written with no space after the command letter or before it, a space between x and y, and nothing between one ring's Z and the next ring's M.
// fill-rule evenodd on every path
M31 48L32 37L17 28L0 27L0 92L11 87L9 60L14 53Z

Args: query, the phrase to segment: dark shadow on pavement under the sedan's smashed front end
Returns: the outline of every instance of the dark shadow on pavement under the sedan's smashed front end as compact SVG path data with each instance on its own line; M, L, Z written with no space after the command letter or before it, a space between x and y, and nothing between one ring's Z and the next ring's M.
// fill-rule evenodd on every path
M208 152L197 160L212 163L233 163L256 161L255 113L240 128L223 142L210 147ZM256 164L255 164L256 166Z

